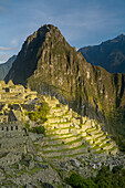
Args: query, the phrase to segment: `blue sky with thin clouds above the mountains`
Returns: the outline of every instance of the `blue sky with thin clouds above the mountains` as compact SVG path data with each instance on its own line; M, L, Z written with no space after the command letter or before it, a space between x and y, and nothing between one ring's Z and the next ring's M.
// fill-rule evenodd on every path
M0 0L0 63L43 24L77 50L125 33L125 0Z

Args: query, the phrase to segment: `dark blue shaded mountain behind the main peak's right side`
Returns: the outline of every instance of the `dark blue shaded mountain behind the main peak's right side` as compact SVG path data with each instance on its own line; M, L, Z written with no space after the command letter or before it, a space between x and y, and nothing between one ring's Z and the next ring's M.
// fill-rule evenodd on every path
M111 73L125 73L125 35L121 34L100 45L79 50L92 65L101 65Z

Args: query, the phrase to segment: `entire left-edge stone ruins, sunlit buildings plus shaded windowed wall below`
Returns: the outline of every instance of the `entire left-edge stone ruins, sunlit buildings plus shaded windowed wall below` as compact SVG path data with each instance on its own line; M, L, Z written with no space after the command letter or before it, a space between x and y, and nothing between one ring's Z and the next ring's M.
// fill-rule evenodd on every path
M0 81L0 166L19 161L28 150L29 137L24 132L22 113L34 111L37 92Z

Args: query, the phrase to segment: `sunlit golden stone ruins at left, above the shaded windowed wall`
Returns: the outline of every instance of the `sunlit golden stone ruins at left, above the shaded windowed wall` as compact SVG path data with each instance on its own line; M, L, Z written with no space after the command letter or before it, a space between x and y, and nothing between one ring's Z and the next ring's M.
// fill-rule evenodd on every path
M0 123L21 121L23 109L34 111L35 104L30 104L37 98L38 93L23 85L14 85L12 81L8 84L0 81Z

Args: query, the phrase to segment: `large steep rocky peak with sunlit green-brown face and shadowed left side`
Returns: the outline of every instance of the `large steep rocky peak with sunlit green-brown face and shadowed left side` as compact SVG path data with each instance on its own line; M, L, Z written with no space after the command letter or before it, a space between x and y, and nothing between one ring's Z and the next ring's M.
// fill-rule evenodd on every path
M93 66L60 30L43 25L30 35L6 81L55 95L76 112L104 123L118 142L125 137L125 74Z

